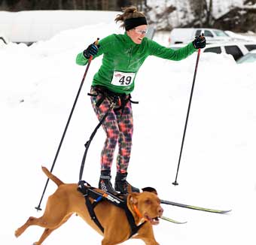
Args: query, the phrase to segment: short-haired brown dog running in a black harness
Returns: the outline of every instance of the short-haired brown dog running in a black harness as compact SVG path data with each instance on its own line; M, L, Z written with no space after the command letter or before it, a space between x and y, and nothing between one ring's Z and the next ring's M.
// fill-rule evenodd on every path
M41 245L45 238L65 223L73 213L77 213L88 225L98 231L99 234L102 234L102 231L90 217L84 196L81 192L78 192L78 184L63 183L51 174L47 168L42 167L42 170L59 187L48 198L44 215L40 218L29 217L26 223L15 231L15 236L19 237L30 225L39 225L45 229L41 238L34 245ZM101 192L99 189L96 190ZM154 238L152 228L152 225L159 223L158 217L163 214L163 208L160 207L160 199L157 195L152 192L133 192L127 196L127 207L133 214L136 225L147 221L132 238L142 239L148 245L159 244ZM130 224L122 208L104 200L96 205L94 211L104 228L102 245L119 244L129 239Z

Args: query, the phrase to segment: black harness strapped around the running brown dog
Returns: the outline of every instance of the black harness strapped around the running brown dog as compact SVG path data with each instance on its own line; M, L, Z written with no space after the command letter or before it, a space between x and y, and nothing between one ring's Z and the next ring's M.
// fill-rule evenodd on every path
M87 210L90 213L91 219L93 219L93 222L96 223L96 225L99 227L99 229L104 233L104 228L102 227L101 223L99 222L99 219L96 217L96 213L94 212L94 208L96 207L97 204L99 204L100 201L108 201L111 204L114 204L117 207L122 208L125 213L127 220L130 224L130 237L133 237L134 234L136 234L139 229L142 227L142 225L145 224L145 222L142 222L140 225L136 225L136 222L134 220L133 214L129 210L126 204L126 196L123 198L119 198L117 195L112 195L111 193L105 192L105 193L100 193L95 190L90 184L88 184L86 181L81 180L78 183L78 191L81 192L84 195L85 198L85 204L87 206ZM93 202L90 201L90 198L93 198ZM129 238L130 238L129 237Z

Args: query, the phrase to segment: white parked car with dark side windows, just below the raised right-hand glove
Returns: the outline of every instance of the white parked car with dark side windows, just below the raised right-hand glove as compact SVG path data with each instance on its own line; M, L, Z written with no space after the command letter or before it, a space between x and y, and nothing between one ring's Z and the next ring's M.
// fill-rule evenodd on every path
M174 44L170 48L177 50L181 47L184 47L185 44ZM206 44L206 47L203 48L203 52L211 53L227 53L233 56L235 60L245 56L251 50L256 50L256 41L239 41L239 42L221 42L216 44Z

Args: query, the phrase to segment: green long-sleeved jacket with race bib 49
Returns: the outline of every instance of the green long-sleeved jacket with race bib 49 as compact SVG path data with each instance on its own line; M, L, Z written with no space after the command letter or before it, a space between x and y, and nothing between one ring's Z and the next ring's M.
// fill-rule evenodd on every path
M181 60L196 50L192 43L172 50L148 38L143 38L142 44L135 44L126 32L124 35L109 35L99 41L99 45L99 51L93 59L103 54L102 65L94 75L92 85L105 86L112 92L125 94L133 91L136 74L148 56ZM78 65L87 64L83 52L78 53L76 62Z

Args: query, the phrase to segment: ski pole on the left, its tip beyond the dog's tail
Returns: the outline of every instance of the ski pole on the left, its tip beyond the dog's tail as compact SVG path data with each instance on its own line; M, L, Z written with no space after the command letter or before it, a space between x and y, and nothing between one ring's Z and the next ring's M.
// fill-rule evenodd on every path
M97 38L97 40L94 42L94 44L98 45L98 42L99 42L99 38ZM71 120L71 118L72 118L72 114L73 114L73 112L74 112L74 110L75 110L75 105L77 104L78 97L79 97L79 95L80 95L82 86L84 85L84 80L85 80L85 77L87 76L87 72L88 72L88 70L89 70L89 68L90 68L90 62L92 61L92 59L93 59L93 56L90 56L90 58L88 59L87 67L86 67L86 69L85 69L85 71L84 71L83 79L81 80L81 84L80 84L80 86L79 86L78 93L77 93L77 95L76 95L76 97L75 97L75 101L74 101L72 110L71 110L71 112L70 112L70 114L69 114L68 122L66 123L66 127L65 127L65 129L64 129L63 134L62 134L62 138L61 138L61 140L60 140L60 142L59 142L59 147L58 147L58 149L57 149L57 151L56 151L56 155L55 155L55 157L54 157L53 164L52 164L52 166L51 166L51 168L50 168L50 173L53 171L54 165L55 165L55 163L56 163L56 159L57 159L57 157L59 156L59 150L60 150L60 148L62 147L62 142L63 142L63 140L64 140L64 138L65 138L67 129L68 129L68 127L69 127L69 122L70 122L70 120ZM44 193L45 193L45 191L46 191L46 189L47 189L48 183L49 183L49 178L47 179L47 181L46 181L46 183L45 183L44 191L43 191L43 193L42 193L42 195L41 195L41 199L40 199L40 201L39 201L38 207L35 207L36 210L41 210L41 207L40 207L40 206L41 206L41 201L42 201L43 198L44 198Z

